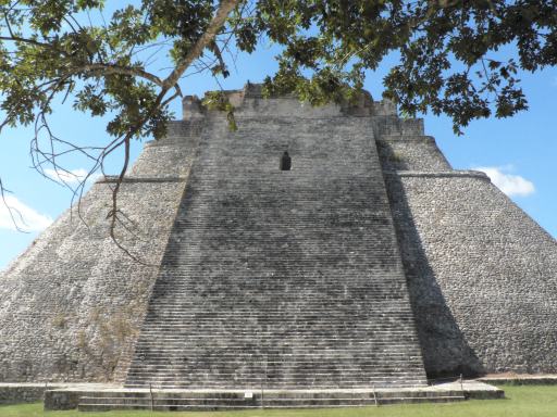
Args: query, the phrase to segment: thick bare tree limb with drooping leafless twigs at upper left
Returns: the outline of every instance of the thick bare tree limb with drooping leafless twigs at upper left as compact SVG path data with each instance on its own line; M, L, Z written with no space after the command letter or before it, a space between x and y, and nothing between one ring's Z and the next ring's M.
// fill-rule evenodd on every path
M119 207L119 192L122 189L122 185L125 180L125 175L127 173L129 166L129 157L131 157L131 141L132 139L141 134L145 126L149 121L161 111L168 106L168 104L174 100L175 98L182 96L182 91L178 85L178 80L185 73L185 71L196 61L198 60L203 51L207 48L210 48L215 54L216 59L220 61L222 56L220 56L220 50L216 47L215 40L216 36L221 33L223 25L226 22L230 13L237 7L243 0L221 0L216 11L207 26L203 35L195 42L191 50L188 51L187 55L181 60L175 67L172 68L170 75L162 79L161 77L154 75L145 70L143 66L133 66L133 65L119 65L117 63L106 63L100 60L99 62L94 62L94 56L89 54L89 59L86 63L77 63L74 65L70 65L65 68L61 68L61 76L54 80L48 81L47 84L39 87L39 89L47 93L47 99L40 104L40 109L38 110L35 118L35 138L32 140L32 161L35 168L45 177L52 179L51 176L48 176L45 172L46 165L53 167L55 173L60 175L60 181L70 188L73 191L72 201L75 198L78 198L78 213L81 207L81 200L84 192L84 187L87 179L90 177L91 173L100 169L104 174L104 161L109 155L111 155L116 149L124 147L124 157L122 168L120 174L117 175L113 185L111 185L112 192L112 201L111 201L111 210L109 211L107 218L110 219L110 237L112 241L116 244L116 247L125 252L128 256L131 256L134 261L141 263L144 265L148 265L146 262L139 260L135 254L133 254L125 244L122 243L116 233L116 228L123 227L123 230L126 232L132 232L131 227L134 226L134 223L120 210ZM72 21L70 21L72 20ZM70 16L70 20L66 18L66 23L70 25L72 30L76 30L78 23L74 21L73 16ZM11 29L9 27L9 29ZM13 41L21 43L29 43L45 50L50 51L51 53L59 54L64 58L70 58L69 53L63 49L59 48L57 43L48 43L46 41L41 41L35 38L25 38L21 35L10 31L10 36L0 36L0 41ZM48 41L48 39L47 39ZM162 43L160 47L162 48L165 43ZM226 46L226 43L225 43ZM158 49L156 50L156 52ZM133 51L132 51L133 53ZM81 148L74 146L70 142L63 141L60 138L55 137L51 131L50 126L48 124L47 115L49 113L49 106L52 98L60 91L60 89L65 90L66 83L74 76L98 76L100 78L107 77L111 74L121 74L127 75L134 78L144 78L153 85L160 88L156 100L152 102L149 108L143 110L143 114L140 115L139 121L135 122L133 126L128 128L125 135L115 138L110 141L103 148ZM170 90L174 90L173 93L170 93ZM71 91L71 84L67 85L67 90L65 90L65 98ZM47 140L49 141L49 146L47 149L41 149L42 143L39 143L39 136L45 135ZM42 139L40 139L42 141ZM94 167L89 170L87 178L85 178L77 187L72 187L67 181L64 180L65 175L71 175L71 170L62 167L58 159L62 155L67 155L72 152L78 152L81 154L86 155L88 159L94 161ZM2 200L4 199L4 188L0 182L0 195ZM81 215L79 215L81 216ZM82 218L83 219L83 218ZM85 223L85 220L84 220ZM15 222L14 222L15 224ZM86 223L85 223L86 224Z

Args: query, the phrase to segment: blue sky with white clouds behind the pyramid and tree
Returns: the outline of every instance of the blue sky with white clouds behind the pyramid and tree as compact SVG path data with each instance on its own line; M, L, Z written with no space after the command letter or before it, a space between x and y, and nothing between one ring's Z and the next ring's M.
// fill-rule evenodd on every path
M232 66L231 77L222 81L226 89L238 89L249 79L261 81L276 68L273 48L263 48L256 55L239 55ZM161 61L160 66L165 66ZM388 63L387 63L388 64ZM157 63L156 63L157 65ZM381 97L382 77L387 65L369 74L366 88L375 99ZM425 115L425 131L434 136L450 164L457 169L482 167L520 207L532 216L554 237L557 236L557 195L554 169L557 156L557 70L548 68L532 74L521 74L530 110L508 119L473 122L465 135L453 134L446 117ZM187 77L182 83L186 94L202 96L218 89L208 75ZM181 105L173 104L181 115ZM60 105L52 116L55 132L81 143L99 143L108 140L104 121L75 113L71 105ZM24 233L13 229L0 207L0 269L23 252L52 219L71 203L71 193L60 185L41 177L30 165L29 139L32 130L5 130L0 136L0 178L13 193L10 202L25 217ZM134 143L136 157L143 143ZM76 173L86 168L81 160L66 161ZM117 166L114 161L113 168Z

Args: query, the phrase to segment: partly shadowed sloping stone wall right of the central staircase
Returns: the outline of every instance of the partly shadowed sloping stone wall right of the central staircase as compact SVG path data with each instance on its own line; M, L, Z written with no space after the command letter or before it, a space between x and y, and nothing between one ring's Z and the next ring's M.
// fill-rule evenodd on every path
M557 243L481 173L386 176L430 376L557 371Z

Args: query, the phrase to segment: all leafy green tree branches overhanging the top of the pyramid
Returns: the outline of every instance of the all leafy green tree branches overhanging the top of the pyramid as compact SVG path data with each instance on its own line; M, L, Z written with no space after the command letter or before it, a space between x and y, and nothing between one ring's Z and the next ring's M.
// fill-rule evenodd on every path
M114 3L111 2L113 5ZM4 126L35 124L51 143L34 143L35 165L58 165L70 149L96 161L133 138L165 134L169 103L182 96L188 68L230 74L226 52L281 47L268 96L294 93L313 105L352 100L367 72L388 54L399 62L384 78L384 96L403 114L447 114L460 132L480 117L507 117L528 108L518 79L557 63L557 0L135 0L104 13L103 0L0 0L0 111ZM107 15L106 15L107 14ZM91 17L92 16L92 17ZM516 56L500 58L511 47ZM172 67L152 71L166 55ZM83 148L48 125L53 103L110 116L110 141ZM223 93L205 103L234 109ZM54 144L65 149L57 152ZM95 152L92 152L95 151ZM91 153L92 152L92 153ZM116 219L115 195L110 215ZM1 187L0 187L1 188ZM4 191L3 188L0 191Z

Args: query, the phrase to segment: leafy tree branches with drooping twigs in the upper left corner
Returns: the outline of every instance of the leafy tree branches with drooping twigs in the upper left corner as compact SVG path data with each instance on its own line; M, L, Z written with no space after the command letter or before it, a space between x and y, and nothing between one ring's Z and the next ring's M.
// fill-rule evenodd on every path
M140 0L106 20L102 0L0 0L0 131L4 126L35 124L32 154L42 173L45 165L70 173L59 160L72 152L91 159L92 170L103 170L107 156L124 148L109 212L116 241L114 229L123 216L116 197L128 167L131 140L164 136L169 103L182 94L180 78L206 49L224 65L216 40L238 3ZM164 49L174 64L166 76L148 68L153 49ZM51 131L48 116L53 103L69 98L76 111L112 117L107 124L112 139L106 146L78 147ZM41 132L50 139L47 149L39 146ZM79 194L84 185L74 192ZM2 198L4 191L0 182Z

